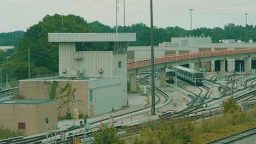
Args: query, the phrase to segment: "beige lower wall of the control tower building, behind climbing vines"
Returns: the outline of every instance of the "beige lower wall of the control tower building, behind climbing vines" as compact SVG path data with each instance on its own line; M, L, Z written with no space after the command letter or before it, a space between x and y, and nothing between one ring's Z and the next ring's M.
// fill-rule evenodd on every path
M52 85L48 83L53 83L53 81L19 81L19 93L24 95L27 99L49 99L50 91ZM88 114L88 82L87 81L79 81L73 80L69 81L72 85L72 88L76 88L74 95L75 95L75 108L79 110L79 113L83 113L84 115ZM58 81L58 87L56 92L60 91L60 88L65 87L67 81ZM65 95L67 91L65 91L61 95ZM65 98L66 99L66 98ZM79 101L78 101L79 100ZM63 100L57 100L57 105L60 106ZM71 106L71 115L73 114L72 111L72 99L71 102L66 104L66 106ZM63 105L62 108L58 111L58 115L61 117L65 116L67 112L66 107Z

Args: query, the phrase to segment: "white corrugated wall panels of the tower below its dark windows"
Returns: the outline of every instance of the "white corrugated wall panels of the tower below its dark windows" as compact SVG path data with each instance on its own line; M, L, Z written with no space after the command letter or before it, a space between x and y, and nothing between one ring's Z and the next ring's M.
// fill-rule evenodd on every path
M72 69L85 70L85 77L110 77L112 76L112 51L103 52L75 52L75 43L59 44L59 71L60 76L71 76ZM82 59L75 59L81 57ZM62 70L67 73L63 74ZM103 74L98 73L103 69Z

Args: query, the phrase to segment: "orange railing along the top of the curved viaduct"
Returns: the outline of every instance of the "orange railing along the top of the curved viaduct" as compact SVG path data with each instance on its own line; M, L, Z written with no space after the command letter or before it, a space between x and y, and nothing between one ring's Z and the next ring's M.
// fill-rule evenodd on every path
M154 64L166 63L171 61L179 61L191 58L200 57L212 57L212 56L222 56L222 55L234 55L239 53L253 53L256 52L256 48L245 49L245 50L225 50L225 51L207 51L207 52L191 52L191 53L181 53L180 55L165 55L154 57ZM135 59L132 61L127 61L127 70L135 69L139 67L146 67L151 64L150 58Z

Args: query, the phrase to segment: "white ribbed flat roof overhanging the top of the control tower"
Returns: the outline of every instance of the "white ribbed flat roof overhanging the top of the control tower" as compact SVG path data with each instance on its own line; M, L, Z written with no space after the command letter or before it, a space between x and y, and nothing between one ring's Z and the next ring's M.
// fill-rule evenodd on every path
M48 33L49 42L136 41L136 33Z

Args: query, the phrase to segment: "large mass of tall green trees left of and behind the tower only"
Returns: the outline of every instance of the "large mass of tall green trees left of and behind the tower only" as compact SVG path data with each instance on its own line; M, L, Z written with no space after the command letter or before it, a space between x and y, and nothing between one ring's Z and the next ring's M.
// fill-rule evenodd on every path
M30 47L31 77L59 70L58 45L48 42L48 33L91 32L88 23L82 17L66 15L63 16L63 21L62 31L61 15L46 15L42 21L28 28L24 35L22 32L23 37L17 50L8 58L7 63L13 63L13 68L3 69L6 73L10 73L10 79L20 80L28 77L28 47ZM18 43L18 40L16 42ZM0 62L1 58L0 53ZM5 65L7 63L3 63L1 67L8 67Z

